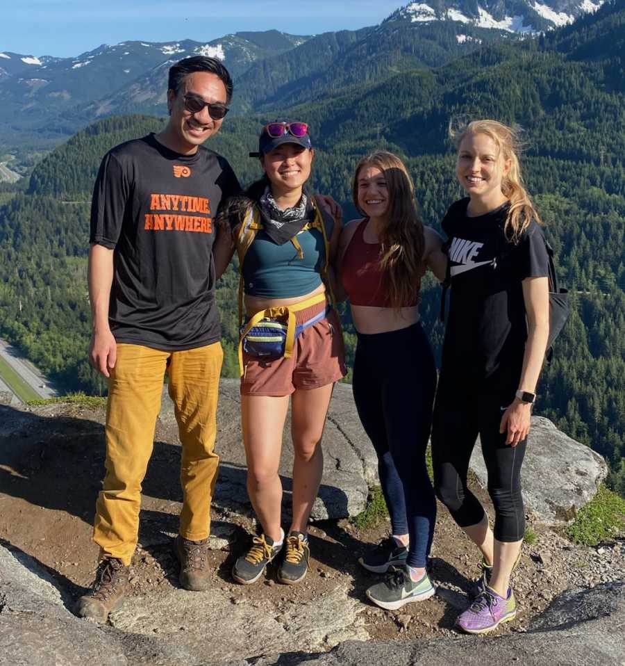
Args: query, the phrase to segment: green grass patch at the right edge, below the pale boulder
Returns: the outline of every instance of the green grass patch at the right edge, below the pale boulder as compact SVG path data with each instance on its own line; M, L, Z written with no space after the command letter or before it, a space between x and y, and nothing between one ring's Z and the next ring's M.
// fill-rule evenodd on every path
M625 499L606 486L582 507L565 533L571 541L583 546L596 546L625 530Z

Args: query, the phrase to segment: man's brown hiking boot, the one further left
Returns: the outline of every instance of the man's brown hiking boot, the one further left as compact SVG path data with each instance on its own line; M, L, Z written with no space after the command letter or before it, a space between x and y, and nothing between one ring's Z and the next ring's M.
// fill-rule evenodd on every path
M124 601L128 586L130 567L117 558L102 560L96 571L96 578L89 594L76 601L74 613L78 617L88 617L95 622L106 622L108 614L119 608Z

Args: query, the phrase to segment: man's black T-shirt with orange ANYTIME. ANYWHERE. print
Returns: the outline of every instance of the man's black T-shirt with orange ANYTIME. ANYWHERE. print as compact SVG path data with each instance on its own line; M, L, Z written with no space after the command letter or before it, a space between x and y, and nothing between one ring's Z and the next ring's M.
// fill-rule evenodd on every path
M109 320L117 342L183 350L219 340L214 219L239 191L228 162L204 147L181 155L149 134L106 154L90 242L115 249Z

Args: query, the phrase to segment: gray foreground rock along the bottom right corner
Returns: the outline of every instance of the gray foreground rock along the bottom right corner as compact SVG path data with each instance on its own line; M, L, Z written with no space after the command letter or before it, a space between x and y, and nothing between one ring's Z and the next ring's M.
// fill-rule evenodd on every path
M428 641L349 641L316 658L301 652L255 660L254 666L623 666L625 583L567 592L526 633ZM251 662L248 662L251 664ZM214 663L217 666L217 663ZM223 663L220 666L235 666Z

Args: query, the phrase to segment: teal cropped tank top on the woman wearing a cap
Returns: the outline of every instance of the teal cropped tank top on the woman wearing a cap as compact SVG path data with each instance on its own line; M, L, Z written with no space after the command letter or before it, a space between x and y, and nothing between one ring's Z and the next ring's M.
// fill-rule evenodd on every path
M243 260L243 288L260 298L294 298L317 289L326 263L324 236L319 229L297 234L303 258L290 241L276 245L260 229Z

